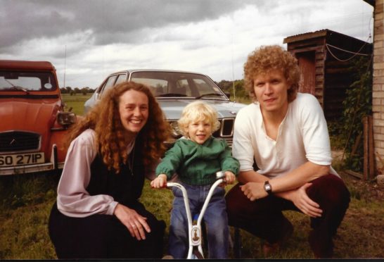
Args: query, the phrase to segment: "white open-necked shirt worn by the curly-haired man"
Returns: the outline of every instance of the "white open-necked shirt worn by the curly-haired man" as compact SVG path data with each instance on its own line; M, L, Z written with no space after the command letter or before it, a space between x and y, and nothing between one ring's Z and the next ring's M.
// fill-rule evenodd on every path
M255 158L257 172L267 177L284 175L307 161L331 165L328 128L319 101L312 94L298 93L288 104L276 141L265 131L259 103L242 108L235 120L232 154L241 171L253 170ZM332 167L331 173L338 175Z

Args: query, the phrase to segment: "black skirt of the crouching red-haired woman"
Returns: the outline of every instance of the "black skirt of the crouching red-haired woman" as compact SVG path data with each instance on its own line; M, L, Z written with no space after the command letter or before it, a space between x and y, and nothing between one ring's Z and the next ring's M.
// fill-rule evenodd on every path
M72 218L53 204L49 216L49 237L58 258L161 258L165 222L158 220L136 201L133 208L147 218L151 232L138 241L116 216L96 214Z

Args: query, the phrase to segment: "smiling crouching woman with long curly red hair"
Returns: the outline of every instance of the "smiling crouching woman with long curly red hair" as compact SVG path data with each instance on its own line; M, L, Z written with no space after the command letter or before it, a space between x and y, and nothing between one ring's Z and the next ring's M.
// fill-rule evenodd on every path
M70 132L49 218L58 258L160 258L165 223L139 202L169 129L148 87L116 85Z

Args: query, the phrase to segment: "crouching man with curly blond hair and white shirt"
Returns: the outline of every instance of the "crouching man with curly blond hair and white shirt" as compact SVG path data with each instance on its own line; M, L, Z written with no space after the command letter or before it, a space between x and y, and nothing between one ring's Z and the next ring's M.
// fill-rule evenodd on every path
M311 219L314 256L332 257L350 193L331 167L322 108L311 94L297 93L297 60L280 46L253 51L244 78L255 103L236 116L232 153L241 172L240 183L226 195L229 224L267 240L267 256L293 232L281 211L300 211Z

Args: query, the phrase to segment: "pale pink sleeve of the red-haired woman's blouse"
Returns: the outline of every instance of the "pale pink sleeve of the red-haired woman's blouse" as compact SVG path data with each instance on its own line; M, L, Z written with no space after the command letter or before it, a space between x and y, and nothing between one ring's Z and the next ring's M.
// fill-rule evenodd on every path
M58 183L58 210L65 216L84 218L96 213L113 215L117 202L112 196L90 196L91 163L96 158L94 131L86 130L69 146Z

